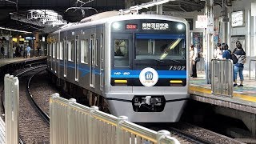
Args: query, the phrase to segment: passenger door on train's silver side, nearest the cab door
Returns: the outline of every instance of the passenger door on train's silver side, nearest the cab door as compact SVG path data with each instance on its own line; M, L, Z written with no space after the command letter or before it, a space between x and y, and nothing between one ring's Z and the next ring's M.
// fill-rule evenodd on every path
M95 34L90 36L90 87L95 86L95 67L96 67L96 48L95 48Z

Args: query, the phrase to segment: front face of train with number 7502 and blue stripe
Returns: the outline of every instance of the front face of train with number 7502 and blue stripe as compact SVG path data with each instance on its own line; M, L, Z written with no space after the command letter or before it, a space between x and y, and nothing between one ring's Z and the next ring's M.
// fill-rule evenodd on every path
M132 17L108 26L110 113L125 115L131 122L177 122L189 97L186 21L159 15Z

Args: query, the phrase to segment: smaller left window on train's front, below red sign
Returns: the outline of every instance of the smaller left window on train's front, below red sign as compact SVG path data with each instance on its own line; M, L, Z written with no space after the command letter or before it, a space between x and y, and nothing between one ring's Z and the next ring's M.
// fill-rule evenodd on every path
M129 66L128 39L114 40L114 66Z

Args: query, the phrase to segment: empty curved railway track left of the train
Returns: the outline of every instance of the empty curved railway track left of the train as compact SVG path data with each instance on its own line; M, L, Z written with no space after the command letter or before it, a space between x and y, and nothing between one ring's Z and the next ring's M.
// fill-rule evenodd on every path
M19 78L19 138L20 143L50 143L50 124L42 117L42 111L33 102L30 93L30 80L38 72L45 70L46 65L18 70L14 76ZM3 99L4 100L4 99Z

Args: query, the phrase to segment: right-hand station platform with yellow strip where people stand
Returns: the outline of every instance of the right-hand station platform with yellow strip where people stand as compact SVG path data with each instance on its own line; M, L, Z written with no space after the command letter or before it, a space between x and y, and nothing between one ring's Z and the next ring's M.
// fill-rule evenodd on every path
M239 84L239 78L238 78ZM242 110L256 114L256 81L244 75L243 86L235 86L233 97L211 94L211 85L206 83L204 71L198 72L198 78L190 78L190 98L216 106Z

